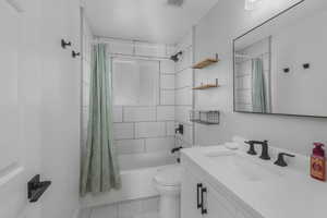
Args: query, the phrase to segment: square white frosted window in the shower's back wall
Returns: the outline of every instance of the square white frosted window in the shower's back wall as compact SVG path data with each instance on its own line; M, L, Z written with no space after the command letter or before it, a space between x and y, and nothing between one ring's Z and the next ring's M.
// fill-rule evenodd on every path
M113 58L112 75L113 105L158 105L158 61Z

